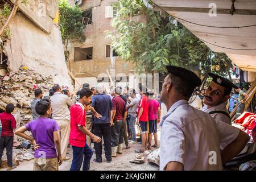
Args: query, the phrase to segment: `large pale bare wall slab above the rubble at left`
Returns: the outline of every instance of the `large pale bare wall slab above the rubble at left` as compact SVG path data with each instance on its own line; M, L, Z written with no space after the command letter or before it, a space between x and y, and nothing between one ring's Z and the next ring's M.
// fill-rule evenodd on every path
M16 72L21 65L36 72L53 75L53 81L71 85L59 27L52 23L46 34L22 13L16 14L10 23L11 39L5 44L9 57L9 69Z

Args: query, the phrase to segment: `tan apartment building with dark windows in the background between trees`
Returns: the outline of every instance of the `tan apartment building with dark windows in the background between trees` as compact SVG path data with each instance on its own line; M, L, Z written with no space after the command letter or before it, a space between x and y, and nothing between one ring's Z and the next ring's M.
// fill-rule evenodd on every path
M108 88L111 85L111 77L115 84L125 86L129 82L129 74L135 73L135 66L118 57L110 47L112 41L107 39L105 34L105 31L110 31L117 35L112 27L113 19L118 12L117 7L112 5L117 0L69 2L76 3L82 10L86 37L84 43L69 45L71 72L81 84L88 82L90 86L96 86L101 83Z

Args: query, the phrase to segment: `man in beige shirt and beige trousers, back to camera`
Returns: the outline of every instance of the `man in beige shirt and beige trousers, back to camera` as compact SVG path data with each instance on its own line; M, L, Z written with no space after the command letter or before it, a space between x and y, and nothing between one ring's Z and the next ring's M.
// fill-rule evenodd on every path
M68 160L69 157L66 158L66 154L70 133L69 107L71 107L73 103L68 96L61 93L60 85L55 84L53 85L52 89L55 92L51 97L52 118L57 122L60 127L61 155L63 157L63 160Z

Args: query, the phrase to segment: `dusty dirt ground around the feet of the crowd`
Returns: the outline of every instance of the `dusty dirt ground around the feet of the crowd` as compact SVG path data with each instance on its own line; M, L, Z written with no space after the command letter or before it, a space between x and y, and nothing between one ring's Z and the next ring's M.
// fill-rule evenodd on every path
M156 171L159 167L155 164L148 163L145 161L143 164L130 163L131 159L134 159L138 153L134 150L139 148L141 143L131 144L131 148L125 149L125 144L123 144L123 154L118 155L116 158L112 158L112 163L107 163L105 159L104 149L102 150L102 163L98 164L93 162L96 155L93 154L92 160L90 162L90 171ZM60 171L69 171L72 162L72 148L68 148L68 155L71 159L64 161L59 167ZM146 160L146 159L145 159ZM32 171L33 170L33 159L29 161L20 162L13 171ZM6 168L0 169L0 171L5 171Z

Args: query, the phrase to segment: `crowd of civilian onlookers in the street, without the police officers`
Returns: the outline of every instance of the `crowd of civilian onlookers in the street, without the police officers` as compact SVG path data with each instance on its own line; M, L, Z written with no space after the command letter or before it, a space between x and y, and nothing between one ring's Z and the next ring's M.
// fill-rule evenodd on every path
M58 84L53 85L48 96L44 97L42 90L36 89L31 101L33 120L15 131L34 146L34 170L58 170L64 160L70 159L66 156L69 145L73 150L71 171L79 171L81 166L82 170L89 170L94 152L94 162L102 163L102 148L109 163L113 157L122 154L123 143L129 149L131 144L140 140L141 148L135 152L158 148L159 100L153 92L146 92L144 88L140 90L138 94L127 86L123 89L112 86L107 93L102 85L90 88L85 83L72 100L74 97L68 88L61 88ZM0 159L6 148L7 169L15 168L16 121L11 114L13 110L14 105L8 104L6 111L0 114ZM151 144L152 137L154 145Z

